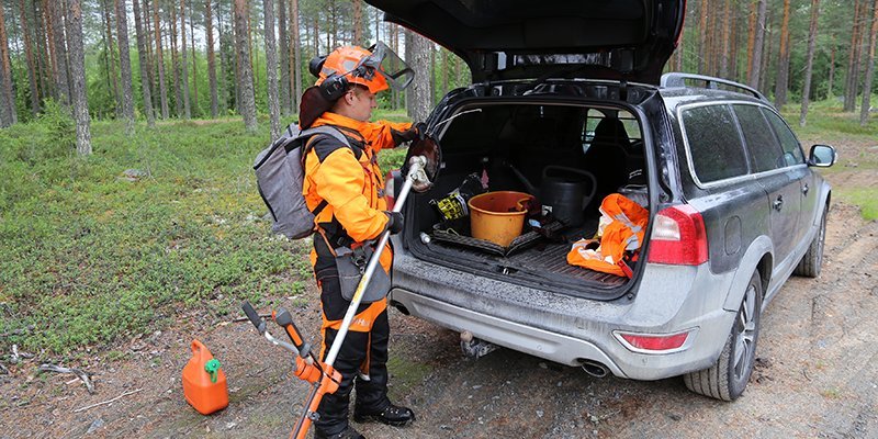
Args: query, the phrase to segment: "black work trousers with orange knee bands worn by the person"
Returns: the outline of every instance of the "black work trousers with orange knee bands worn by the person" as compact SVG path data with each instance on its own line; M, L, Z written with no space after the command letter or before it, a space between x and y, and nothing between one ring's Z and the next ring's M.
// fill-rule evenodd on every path
M319 238L318 238L319 239ZM323 307L323 349L320 360L325 361L329 348L338 335L338 328L350 305L341 296L341 284L335 258L326 255L325 241L315 243L317 261L314 272L320 289ZM323 248L320 248L323 247ZM381 309L378 311L379 306ZM376 312L378 311L378 312ZM348 426L348 406L350 392L357 389L356 406L365 413L382 412L390 405L387 398L387 340L390 325L386 305L380 303L361 304L357 309L358 319L371 320L371 330L351 325L341 345L333 367L341 374L341 384L333 394L326 394L317 408L319 419L314 421L315 428L326 436L342 431ZM357 330L359 329L359 330Z

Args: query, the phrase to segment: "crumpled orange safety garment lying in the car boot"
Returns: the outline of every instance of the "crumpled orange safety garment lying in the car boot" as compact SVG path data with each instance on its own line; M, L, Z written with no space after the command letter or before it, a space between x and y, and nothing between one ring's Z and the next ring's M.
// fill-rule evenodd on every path
M600 246L590 248L593 239L573 243L567 263L630 278L626 252L639 251L643 245L650 212L624 195L611 193L600 203Z

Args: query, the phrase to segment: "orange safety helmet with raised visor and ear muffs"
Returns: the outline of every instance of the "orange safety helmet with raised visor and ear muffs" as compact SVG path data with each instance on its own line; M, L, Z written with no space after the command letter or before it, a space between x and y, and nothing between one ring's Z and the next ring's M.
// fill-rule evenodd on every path
M348 86L356 83L371 93L393 88L403 90L412 83L415 72L384 43L364 49L342 46L329 55L311 60L308 70L317 77L314 83L329 101L341 98Z

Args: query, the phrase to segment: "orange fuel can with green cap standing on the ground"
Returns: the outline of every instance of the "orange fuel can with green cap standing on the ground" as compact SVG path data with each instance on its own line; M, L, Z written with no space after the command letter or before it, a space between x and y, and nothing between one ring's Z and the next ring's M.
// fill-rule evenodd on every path
M228 406L226 374L219 361L199 340L192 340L192 358L183 368L183 396L202 415Z

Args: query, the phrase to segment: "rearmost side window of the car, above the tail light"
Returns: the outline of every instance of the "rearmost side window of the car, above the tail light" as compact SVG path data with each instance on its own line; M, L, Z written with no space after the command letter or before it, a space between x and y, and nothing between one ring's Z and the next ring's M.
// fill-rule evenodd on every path
M703 183L747 173L747 158L729 105L696 106L682 113L695 175Z

